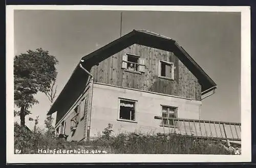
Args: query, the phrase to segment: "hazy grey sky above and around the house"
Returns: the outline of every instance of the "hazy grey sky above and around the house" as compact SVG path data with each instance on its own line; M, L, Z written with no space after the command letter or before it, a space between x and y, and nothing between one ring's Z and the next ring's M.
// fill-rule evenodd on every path
M54 55L57 95L81 57L120 37L121 11L15 10L14 54L41 47ZM176 40L217 83L215 94L202 100L201 119L241 122L241 14L236 12L122 11L122 35L133 29ZM50 101L43 93L26 116L44 120ZM19 121L19 118L15 118Z

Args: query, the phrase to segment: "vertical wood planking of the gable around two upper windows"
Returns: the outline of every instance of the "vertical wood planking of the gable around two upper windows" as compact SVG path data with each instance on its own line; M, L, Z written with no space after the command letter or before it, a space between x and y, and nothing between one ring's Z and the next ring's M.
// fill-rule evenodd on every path
M122 55L126 53L144 58L145 73L129 73L121 68ZM159 60L174 63L174 80L158 77ZM194 100L201 99L201 86L198 80L172 52L133 44L101 61L98 66L93 66L93 69L96 82L177 95Z

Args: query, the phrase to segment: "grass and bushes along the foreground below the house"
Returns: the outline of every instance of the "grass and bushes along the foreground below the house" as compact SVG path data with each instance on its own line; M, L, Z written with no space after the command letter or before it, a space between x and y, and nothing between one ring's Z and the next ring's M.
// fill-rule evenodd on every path
M143 135L121 133L112 136L112 126L105 128L102 135L90 142L68 142L37 131L32 133L25 127L14 124L14 153L37 154L42 150L100 150L112 154L234 154L221 142L212 143L193 136L181 134Z

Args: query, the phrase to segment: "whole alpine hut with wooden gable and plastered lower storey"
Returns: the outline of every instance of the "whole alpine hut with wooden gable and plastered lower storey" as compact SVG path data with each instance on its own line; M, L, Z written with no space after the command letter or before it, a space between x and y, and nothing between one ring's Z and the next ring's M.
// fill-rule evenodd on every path
M161 133L167 121L155 116L199 119L202 97L215 89L175 40L133 30L82 57L48 115L57 112L56 133L67 140L89 140L108 123L115 134Z

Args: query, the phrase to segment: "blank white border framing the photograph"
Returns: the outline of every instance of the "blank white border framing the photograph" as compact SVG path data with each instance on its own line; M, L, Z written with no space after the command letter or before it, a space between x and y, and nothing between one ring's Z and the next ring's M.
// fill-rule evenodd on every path
M118 10L241 12L241 155L157 154L14 154L14 10ZM251 44L249 6L91 6L9 5L6 6L6 162L7 163L124 163L124 162L250 162L251 161Z

